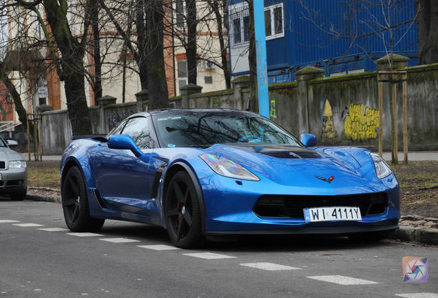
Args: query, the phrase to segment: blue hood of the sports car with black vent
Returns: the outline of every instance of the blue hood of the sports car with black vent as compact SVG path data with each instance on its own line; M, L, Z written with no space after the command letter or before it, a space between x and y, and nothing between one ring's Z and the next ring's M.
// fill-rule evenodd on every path
M326 188L330 185L335 188L346 185L364 186L366 183L364 188L369 191L371 182L380 185L380 181L375 176L373 163L366 150L355 149L362 153L361 158L355 159L347 148L337 148L328 154L326 148L309 149L275 144L217 144L207 151L232 159L253 171L255 175L263 175L286 186ZM324 180L332 176L333 181Z

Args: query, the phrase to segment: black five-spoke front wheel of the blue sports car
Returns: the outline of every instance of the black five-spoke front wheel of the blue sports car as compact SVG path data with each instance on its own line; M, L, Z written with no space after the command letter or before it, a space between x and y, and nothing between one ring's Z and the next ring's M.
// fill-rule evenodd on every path
M169 238L179 248L196 248L204 242L198 199L187 172L176 172L167 188L165 220Z

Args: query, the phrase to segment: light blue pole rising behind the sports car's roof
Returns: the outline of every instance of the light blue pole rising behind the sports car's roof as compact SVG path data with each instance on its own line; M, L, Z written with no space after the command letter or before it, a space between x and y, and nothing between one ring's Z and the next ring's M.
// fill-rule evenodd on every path
M266 38L264 36L264 1L254 0L255 54L257 56L258 112L269 118Z

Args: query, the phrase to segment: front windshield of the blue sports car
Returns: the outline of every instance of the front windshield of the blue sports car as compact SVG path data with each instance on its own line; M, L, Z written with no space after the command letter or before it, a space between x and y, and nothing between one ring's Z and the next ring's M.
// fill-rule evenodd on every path
M163 147L209 147L215 143L302 146L275 123L249 112L169 112L152 119Z

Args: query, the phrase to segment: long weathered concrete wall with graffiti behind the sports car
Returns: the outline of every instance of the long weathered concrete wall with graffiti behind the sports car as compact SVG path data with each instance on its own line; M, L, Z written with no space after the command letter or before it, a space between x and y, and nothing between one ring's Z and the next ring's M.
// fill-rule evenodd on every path
M438 150L438 63L430 66L404 68L408 71L408 148ZM309 74L311 73L311 74ZM321 74L322 75L322 74ZM320 72L297 74L298 82L269 86L270 117L299 137L310 132L319 145L363 146L377 150L379 132L377 72L320 77ZM248 106L249 79L233 82L233 89L216 92L181 92L171 97L172 108L232 108ZM384 83L383 133L384 150L390 150L390 83ZM183 90L182 90L183 91ZM403 149L402 88L397 85L397 119L399 150ZM107 133L117 123L143 104L125 103L93 106L90 117L94 133ZM139 108L141 107L141 108ZM43 152L61 153L71 139L67 111L43 113Z

